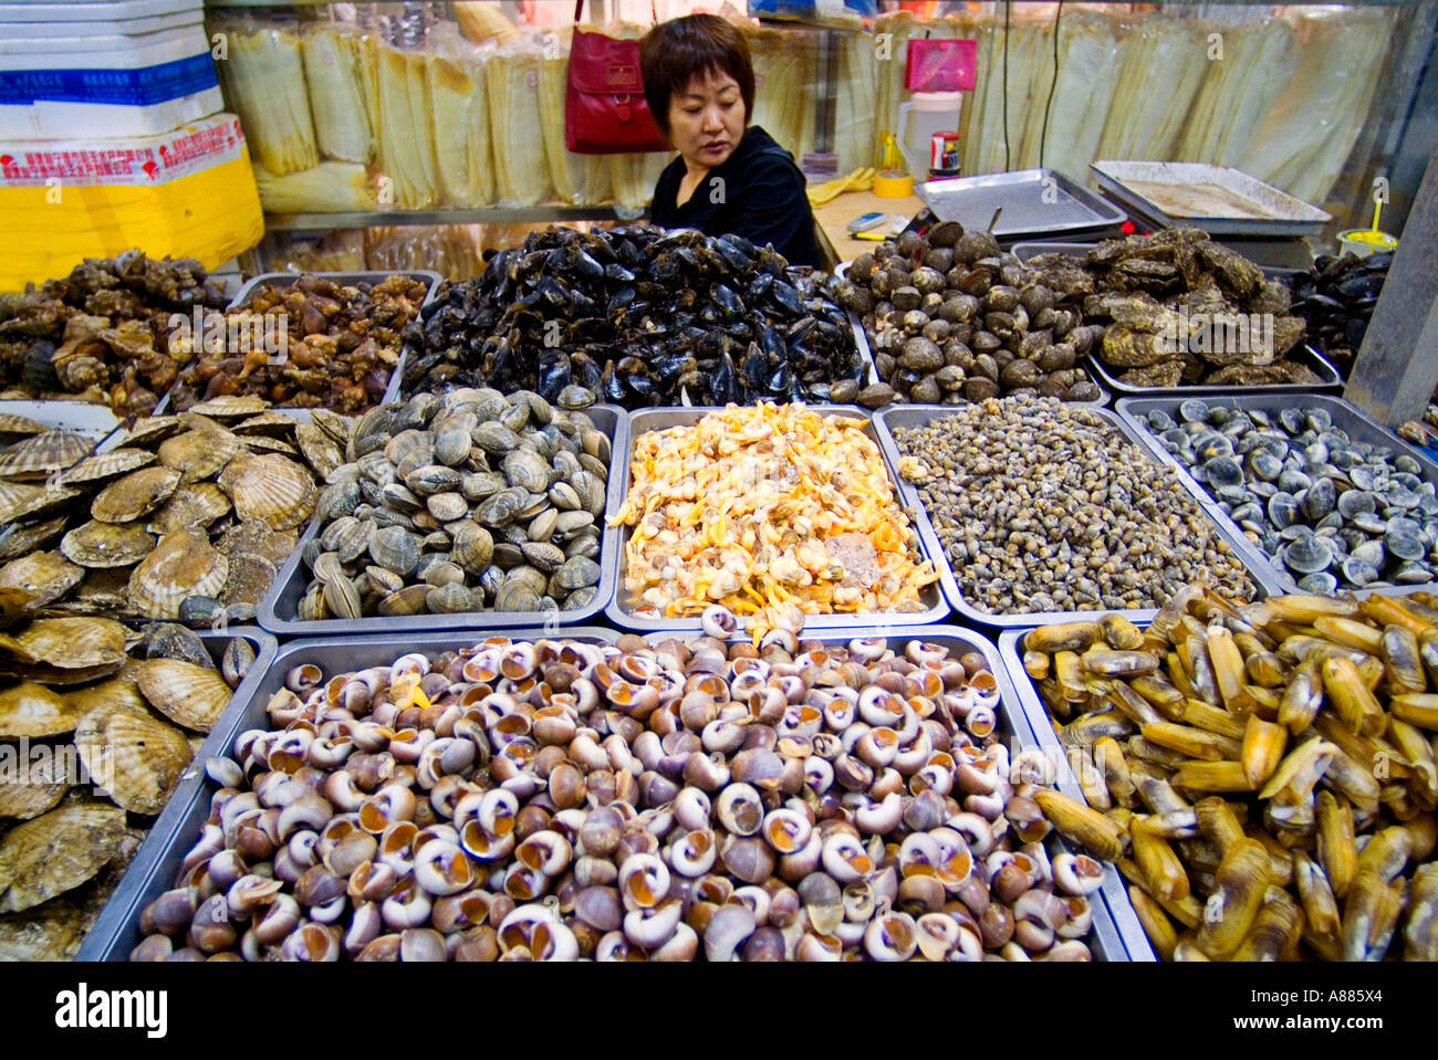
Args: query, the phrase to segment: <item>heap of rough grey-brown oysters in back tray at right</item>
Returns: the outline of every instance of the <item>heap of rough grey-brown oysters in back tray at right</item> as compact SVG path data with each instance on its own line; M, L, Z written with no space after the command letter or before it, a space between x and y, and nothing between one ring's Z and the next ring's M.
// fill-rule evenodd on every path
M1093 353L1132 386L1316 383L1284 359L1304 335L1288 289L1198 228L1104 240L1081 259L1038 254L1030 267L1110 322ZM1261 326L1271 317L1271 333ZM1264 339L1268 339L1265 343Z

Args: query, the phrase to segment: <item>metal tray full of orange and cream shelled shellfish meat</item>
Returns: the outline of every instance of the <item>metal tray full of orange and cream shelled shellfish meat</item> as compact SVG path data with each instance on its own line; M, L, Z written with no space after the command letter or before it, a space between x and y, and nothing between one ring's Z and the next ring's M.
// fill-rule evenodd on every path
M620 629L699 632L715 605L759 631L949 616L866 409L644 409L615 454Z

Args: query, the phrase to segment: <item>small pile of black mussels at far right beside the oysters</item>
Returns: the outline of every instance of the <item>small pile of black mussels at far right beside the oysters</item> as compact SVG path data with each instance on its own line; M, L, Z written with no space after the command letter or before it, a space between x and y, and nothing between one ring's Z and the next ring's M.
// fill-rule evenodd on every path
M1392 251L1357 257L1320 254L1307 273L1287 277L1290 310L1309 325L1309 342L1347 378L1393 263Z

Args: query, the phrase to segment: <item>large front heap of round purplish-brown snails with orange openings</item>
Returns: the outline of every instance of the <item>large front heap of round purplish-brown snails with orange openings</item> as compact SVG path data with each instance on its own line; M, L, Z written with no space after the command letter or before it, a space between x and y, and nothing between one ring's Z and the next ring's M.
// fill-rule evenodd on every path
M1103 865L1045 813L1116 843L1009 763L976 652L490 638L286 684L131 959L1091 957Z

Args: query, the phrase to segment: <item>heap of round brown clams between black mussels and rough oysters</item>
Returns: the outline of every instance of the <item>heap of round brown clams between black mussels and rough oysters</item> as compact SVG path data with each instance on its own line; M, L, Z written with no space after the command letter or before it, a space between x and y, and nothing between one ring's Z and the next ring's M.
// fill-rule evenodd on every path
M837 292L863 320L879 372L860 405L1102 396L1074 366L1096 329L1081 327L1083 313L1061 307L1061 292L986 231L940 221L925 236L884 240L854 259Z

